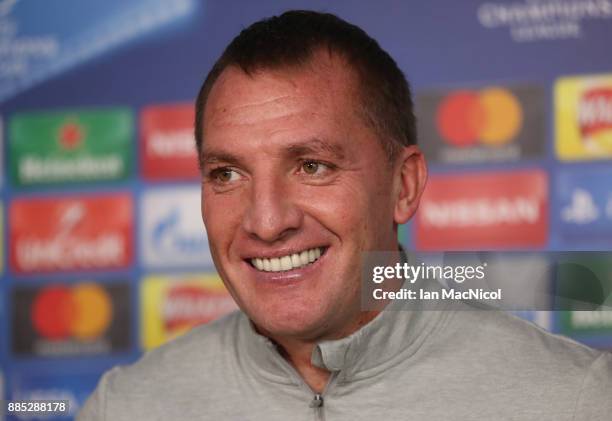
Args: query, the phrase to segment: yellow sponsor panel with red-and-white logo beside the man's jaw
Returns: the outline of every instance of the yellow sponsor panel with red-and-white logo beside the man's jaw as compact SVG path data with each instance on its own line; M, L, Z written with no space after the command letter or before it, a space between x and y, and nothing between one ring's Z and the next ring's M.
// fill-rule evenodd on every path
M142 346L159 346L236 308L216 274L146 278L141 284Z

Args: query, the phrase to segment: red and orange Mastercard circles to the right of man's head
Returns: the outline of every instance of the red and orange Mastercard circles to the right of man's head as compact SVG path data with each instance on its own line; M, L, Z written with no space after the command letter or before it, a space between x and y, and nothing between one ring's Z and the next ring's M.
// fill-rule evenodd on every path
M441 137L455 147L502 146L519 133L523 110L516 96L504 88L461 90L440 102L436 124Z

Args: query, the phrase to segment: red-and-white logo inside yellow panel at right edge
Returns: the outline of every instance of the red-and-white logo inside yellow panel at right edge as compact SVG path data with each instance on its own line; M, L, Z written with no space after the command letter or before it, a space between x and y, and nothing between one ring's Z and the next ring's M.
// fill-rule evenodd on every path
M583 138L612 129L612 88L595 88L582 95L578 124Z

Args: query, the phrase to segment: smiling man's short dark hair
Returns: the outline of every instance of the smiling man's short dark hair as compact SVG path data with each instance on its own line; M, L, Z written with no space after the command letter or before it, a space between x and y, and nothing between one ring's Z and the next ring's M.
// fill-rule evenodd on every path
M363 29L335 15L294 10L242 30L208 73L196 100L198 157L206 101L223 70L236 66L251 75L262 69L302 66L321 48L339 54L356 71L364 117L384 139L382 146L389 158L401 146L416 144L410 87L393 58Z

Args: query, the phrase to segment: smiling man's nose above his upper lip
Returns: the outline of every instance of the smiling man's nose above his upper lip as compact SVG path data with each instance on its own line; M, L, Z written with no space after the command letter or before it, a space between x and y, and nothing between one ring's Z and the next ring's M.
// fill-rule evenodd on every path
M273 243L299 230L303 213L285 180L273 176L254 180L250 196L242 224L251 237Z

